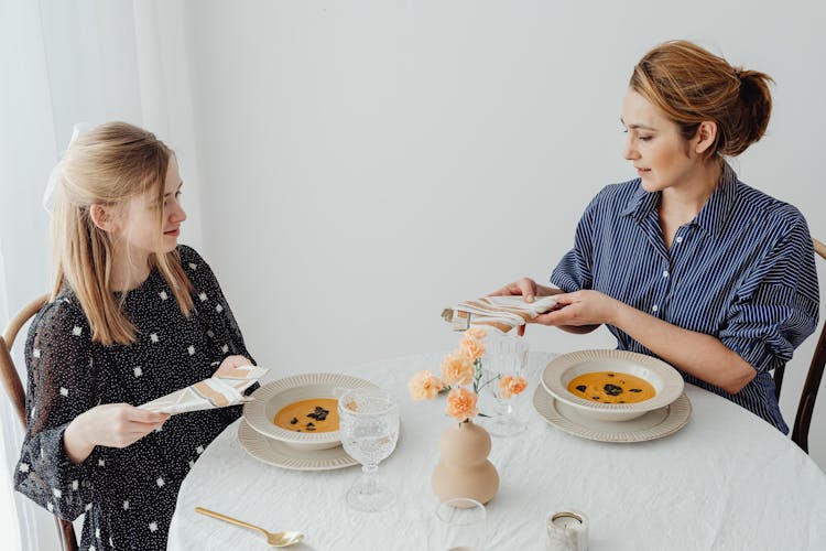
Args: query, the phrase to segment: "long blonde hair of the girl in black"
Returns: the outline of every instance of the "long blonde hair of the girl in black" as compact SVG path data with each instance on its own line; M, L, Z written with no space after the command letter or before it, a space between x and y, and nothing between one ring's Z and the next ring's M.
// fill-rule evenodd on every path
M123 314L127 293L117 300L111 288L112 238L93 222L91 206L117 207L153 188L163 205L172 155L152 132L126 122L107 122L79 136L63 156L52 219L52 300L68 285L89 321L94 342L128 345L134 342L137 329ZM176 250L160 253L163 208L157 210L159 253L150 255L150 267L159 269L188 316L193 285Z

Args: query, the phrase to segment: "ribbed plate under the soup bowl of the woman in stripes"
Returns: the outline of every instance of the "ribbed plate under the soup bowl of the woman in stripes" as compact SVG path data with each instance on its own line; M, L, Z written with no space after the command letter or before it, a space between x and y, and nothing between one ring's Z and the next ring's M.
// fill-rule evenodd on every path
M600 421L582 414L576 408L555 399L542 385L533 392L533 407L557 429L599 442L645 442L677 432L692 415L692 402L685 392L672 403L628 421Z

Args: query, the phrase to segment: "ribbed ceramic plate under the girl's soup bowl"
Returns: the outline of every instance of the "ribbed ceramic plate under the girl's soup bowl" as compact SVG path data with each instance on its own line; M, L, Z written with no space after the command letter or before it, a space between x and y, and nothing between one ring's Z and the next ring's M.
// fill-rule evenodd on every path
M248 454L262 463L276 467L293 471L333 471L358 465L358 462L347 455L341 446L326 450L302 450L287 445L280 440L264 436L252 429L244 420L241 420L238 425L238 441Z

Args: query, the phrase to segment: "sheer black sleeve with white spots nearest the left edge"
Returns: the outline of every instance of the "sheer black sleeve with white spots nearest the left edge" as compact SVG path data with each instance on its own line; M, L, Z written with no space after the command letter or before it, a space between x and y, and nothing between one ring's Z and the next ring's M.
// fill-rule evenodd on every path
M18 491L74 520L91 503L96 453L74 464L63 447L68 423L98 403L89 327L68 300L45 306L25 346L29 426L14 473Z

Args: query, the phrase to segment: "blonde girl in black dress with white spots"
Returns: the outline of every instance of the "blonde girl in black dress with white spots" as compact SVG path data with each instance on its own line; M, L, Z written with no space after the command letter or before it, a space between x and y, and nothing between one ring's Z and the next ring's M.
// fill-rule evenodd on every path
M101 125L56 176L54 284L25 346L15 487L64 519L85 512L83 549L165 549L181 482L240 412L137 406L251 356L209 266L177 244L183 182L163 142Z

